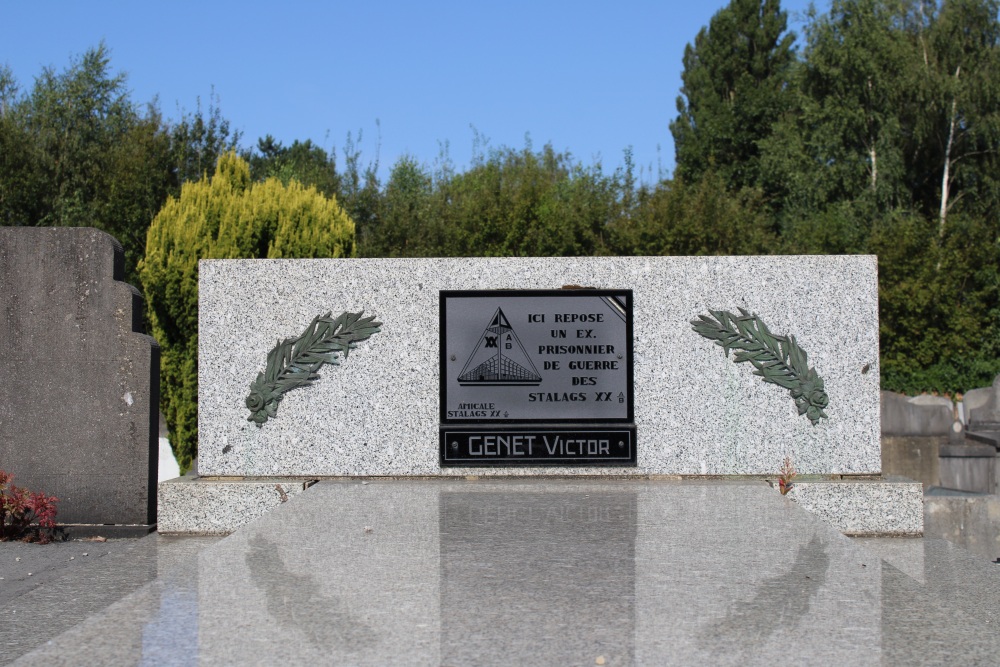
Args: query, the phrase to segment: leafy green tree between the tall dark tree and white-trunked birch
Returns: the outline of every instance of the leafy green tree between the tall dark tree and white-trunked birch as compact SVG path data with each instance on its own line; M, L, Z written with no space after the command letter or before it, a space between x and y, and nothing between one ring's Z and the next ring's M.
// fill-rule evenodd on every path
M907 205L901 115L915 52L898 7L834 0L828 14L810 18L794 113L761 142L769 191L792 221L829 207L842 219L846 202L858 219Z

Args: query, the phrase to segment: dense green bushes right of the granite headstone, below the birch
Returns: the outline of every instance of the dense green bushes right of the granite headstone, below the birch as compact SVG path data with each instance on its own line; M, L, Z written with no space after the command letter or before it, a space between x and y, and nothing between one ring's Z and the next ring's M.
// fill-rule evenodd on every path
M882 388L954 393L991 384L1000 373L995 223L955 216L942 238L934 216L896 213L870 243L879 260Z

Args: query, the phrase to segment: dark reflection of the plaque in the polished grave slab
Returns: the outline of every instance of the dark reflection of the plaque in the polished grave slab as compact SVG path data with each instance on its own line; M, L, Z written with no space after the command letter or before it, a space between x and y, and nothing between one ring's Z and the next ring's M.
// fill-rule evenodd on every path
M634 664L637 506L628 486L442 491L441 664L509 639L548 664Z

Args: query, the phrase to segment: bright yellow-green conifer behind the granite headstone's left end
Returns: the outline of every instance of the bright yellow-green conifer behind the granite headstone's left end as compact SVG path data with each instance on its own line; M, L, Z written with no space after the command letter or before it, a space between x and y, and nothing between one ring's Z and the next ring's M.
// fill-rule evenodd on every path
M198 260L353 255L354 223L335 199L295 180L255 183L235 152L219 159L214 176L167 200L150 225L139 271L162 350L162 409L182 471L198 446Z

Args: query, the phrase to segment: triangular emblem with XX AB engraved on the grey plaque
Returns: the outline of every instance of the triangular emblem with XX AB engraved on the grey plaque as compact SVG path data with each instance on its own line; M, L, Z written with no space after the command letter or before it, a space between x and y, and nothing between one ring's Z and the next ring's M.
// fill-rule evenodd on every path
M537 385L542 376L500 308L465 362L461 385Z

